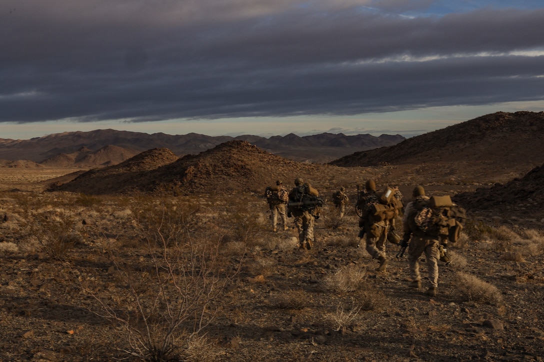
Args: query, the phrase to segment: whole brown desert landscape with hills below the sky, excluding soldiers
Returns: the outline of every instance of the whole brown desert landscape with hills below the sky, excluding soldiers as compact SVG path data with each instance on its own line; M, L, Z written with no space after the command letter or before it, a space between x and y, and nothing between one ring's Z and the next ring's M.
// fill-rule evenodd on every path
M410 139L0 139L0 361L542 361L542 139L543 112ZM310 251L264 199L296 177L326 202ZM467 210L436 297L397 245L375 271L354 207L370 178Z

